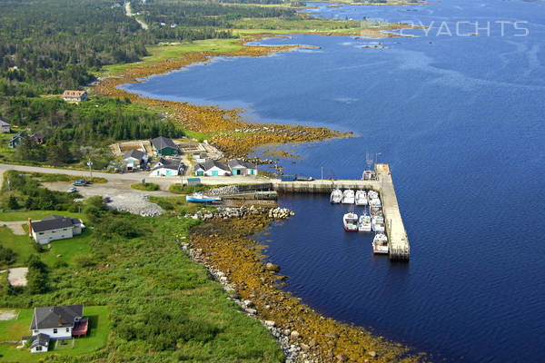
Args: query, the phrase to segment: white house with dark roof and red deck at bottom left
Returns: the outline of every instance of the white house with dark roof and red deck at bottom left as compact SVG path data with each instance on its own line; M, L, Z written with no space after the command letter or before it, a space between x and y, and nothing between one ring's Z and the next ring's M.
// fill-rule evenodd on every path
M83 315L83 305L35 308L30 324L32 336L23 337L23 341L30 340L30 351L37 353L47 351L50 340L85 336L89 319L82 319Z

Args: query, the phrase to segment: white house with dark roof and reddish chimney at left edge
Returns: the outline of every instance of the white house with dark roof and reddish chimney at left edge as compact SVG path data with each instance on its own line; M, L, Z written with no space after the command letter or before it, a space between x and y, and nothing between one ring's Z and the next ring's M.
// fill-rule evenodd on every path
M72 238L74 235L81 234L84 227L81 220L56 214L52 214L42 221L28 220L28 234L40 244Z

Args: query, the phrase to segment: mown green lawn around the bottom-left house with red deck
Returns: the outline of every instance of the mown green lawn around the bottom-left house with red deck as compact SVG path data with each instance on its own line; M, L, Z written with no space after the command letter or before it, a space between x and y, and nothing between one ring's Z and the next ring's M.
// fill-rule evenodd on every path
M18 309L17 319L0 321L0 341L17 340L30 335L30 323L34 309ZM28 348L15 348L15 344L0 344L0 360L13 362L38 362L50 355L78 356L104 347L109 334L110 320L108 308L100 306L84 307L84 317L89 318L87 337L76 338L66 346L51 344L47 353L31 354Z

